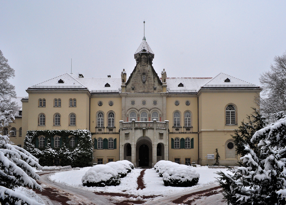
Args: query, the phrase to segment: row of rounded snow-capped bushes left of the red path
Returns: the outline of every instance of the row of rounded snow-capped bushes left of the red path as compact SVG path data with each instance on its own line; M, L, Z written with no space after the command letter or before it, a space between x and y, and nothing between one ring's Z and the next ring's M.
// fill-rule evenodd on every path
M127 175L127 170L131 167L128 160L117 162L108 162L107 164L97 164L86 171L82 177L84 186L117 186L120 184L120 178ZM132 163L131 163L132 164ZM134 165L132 164L134 167Z

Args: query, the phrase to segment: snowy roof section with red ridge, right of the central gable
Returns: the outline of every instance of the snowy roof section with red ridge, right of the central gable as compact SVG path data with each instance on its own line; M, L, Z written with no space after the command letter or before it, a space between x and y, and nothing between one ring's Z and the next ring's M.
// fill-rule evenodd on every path
M169 93L197 93L211 78L166 78ZM183 87L178 87L182 83Z

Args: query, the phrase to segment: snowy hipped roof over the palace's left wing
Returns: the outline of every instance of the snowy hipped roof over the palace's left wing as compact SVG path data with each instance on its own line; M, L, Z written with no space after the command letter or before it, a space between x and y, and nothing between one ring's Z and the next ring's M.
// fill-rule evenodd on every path
M42 83L38 83L37 85L33 85L28 89L86 89L86 86L77 79L78 78L73 74L64 73Z

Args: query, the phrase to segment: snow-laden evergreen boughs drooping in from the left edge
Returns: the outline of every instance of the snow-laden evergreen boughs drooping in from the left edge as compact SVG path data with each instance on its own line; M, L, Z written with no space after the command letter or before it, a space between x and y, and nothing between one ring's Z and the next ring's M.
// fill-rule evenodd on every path
M0 102L0 107L3 107ZM0 109L0 129L8 126L14 117L12 110L2 112ZM9 135L8 135L9 136ZM25 149L9 144L9 137L0 133L0 204L33 204L40 203L28 198L14 190L19 186L27 186L33 189L42 190L36 182L40 180L34 168L41 169L39 161Z

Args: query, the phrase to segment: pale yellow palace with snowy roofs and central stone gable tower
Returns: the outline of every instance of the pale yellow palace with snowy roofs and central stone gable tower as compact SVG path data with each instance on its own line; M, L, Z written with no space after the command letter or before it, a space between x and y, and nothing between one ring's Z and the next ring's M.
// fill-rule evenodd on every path
M154 166L164 159L206 165L207 154L218 148L220 164L234 165L238 156L231 134L253 113L261 89L224 73L168 78L163 70L159 77L145 37L134 58L134 70L127 74L123 69L121 78L65 73L29 87L29 97L21 99L22 137L19 128L15 131L19 143L27 130L88 129L93 163L126 159L135 166ZM61 146L60 138L54 136L53 147ZM36 142L45 146L43 136Z

